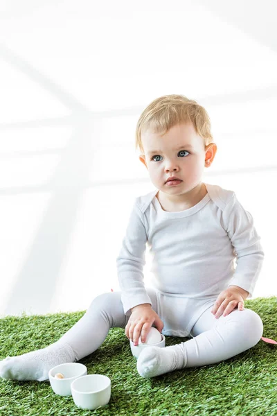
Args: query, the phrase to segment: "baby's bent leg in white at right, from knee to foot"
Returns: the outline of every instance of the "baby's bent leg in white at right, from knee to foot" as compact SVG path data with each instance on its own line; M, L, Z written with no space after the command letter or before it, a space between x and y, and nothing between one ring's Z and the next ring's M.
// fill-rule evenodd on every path
M195 338L172 347L149 347L141 352L137 367L145 378L184 367L199 367L227 360L258 343L262 336L262 320L250 309L233 310L218 320L209 308L197 320Z

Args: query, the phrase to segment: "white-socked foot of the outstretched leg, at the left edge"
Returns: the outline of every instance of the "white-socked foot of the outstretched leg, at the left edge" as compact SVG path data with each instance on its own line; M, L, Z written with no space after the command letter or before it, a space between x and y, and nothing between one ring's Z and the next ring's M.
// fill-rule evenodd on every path
M48 380L48 371L55 365L74 363L75 354L69 344L54 343L21 356L0 361L0 376L11 380Z

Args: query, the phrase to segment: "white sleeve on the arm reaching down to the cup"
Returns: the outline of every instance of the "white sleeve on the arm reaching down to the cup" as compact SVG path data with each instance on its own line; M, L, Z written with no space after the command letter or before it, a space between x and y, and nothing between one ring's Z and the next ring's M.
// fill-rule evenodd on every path
M122 291L121 301L126 315L129 315L130 309L136 305L149 303L152 306L143 283L146 242L143 214L135 202L116 259L118 281Z

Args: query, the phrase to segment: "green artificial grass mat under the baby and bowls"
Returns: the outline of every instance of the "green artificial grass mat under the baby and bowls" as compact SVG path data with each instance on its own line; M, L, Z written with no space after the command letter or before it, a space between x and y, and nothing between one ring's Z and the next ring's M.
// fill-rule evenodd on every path
M277 297L247 300L264 324L263 336L277 338ZM0 320L0 360L55 342L84 312L8 316ZM166 337L166 345L185 338ZM111 400L82 410L71 396L55 395L48 381L0 379L1 416L71 415L277 415L277 345L262 340L247 352L206 367L179 370L153 379L136 371L123 329L111 329L105 343L80 362L88 374L111 379Z

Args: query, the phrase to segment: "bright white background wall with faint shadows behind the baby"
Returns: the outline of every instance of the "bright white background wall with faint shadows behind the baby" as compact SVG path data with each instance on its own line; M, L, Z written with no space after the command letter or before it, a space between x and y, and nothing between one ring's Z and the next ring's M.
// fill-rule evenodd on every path
M118 290L130 208L154 189L136 121L164 94L206 107L218 151L204 181L253 215L253 295L277 295L275 5L0 1L0 315L84 310Z

